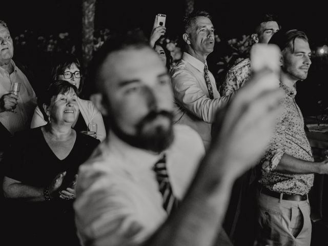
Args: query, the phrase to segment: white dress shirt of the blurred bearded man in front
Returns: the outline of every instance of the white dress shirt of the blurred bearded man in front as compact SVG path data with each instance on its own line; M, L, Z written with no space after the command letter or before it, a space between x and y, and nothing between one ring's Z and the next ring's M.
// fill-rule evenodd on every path
M204 154L199 135L174 126L175 138L165 151L174 195L182 199ZM74 209L84 245L139 243L166 219L156 174L161 155L134 148L112 132L80 166Z

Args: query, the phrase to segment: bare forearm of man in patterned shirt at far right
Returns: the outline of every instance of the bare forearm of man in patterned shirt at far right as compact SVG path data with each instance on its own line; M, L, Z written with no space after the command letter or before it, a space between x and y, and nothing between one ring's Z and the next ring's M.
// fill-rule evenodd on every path
M321 173L322 167L322 162L301 160L289 154L283 154L275 170L281 173L310 174Z

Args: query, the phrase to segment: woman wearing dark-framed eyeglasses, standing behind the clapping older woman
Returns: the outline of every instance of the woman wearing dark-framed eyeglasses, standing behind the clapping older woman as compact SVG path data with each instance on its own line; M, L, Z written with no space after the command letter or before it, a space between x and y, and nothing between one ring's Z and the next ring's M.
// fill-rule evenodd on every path
M76 86L78 92L81 93L83 88L83 76L80 72L79 60L71 55L65 54L56 61L51 70L51 77L53 80L62 79L66 80L72 85ZM38 98L40 103L43 103L42 98ZM77 98L79 107L79 115L72 125L75 131L81 132L88 129L88 124L93 122L97 124L97 139L103 141L106 138L106 129L104 125L103 116L96 109L92 101ZM45 114L39 107L35 108L34 115L31 121L31 128L44 126L49 122Z

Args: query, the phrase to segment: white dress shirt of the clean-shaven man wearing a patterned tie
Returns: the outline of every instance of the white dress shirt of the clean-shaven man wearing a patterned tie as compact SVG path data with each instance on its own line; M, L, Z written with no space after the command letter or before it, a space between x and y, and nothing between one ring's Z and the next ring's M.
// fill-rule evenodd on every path
M186 124L198 132L207 148L216 111L226 105L230 96L220 97L214 76L209 71L214 99L210 98L204 77L205 64L185 52L179 63L172 68L171 76L177 106L174 121Z

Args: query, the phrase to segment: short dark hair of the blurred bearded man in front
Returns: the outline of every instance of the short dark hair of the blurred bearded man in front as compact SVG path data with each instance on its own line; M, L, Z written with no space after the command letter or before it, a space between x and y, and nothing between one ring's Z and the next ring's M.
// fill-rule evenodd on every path
M145 47L151 49L148 43L148 39L140 29L130 30L125 33L113 34L112 37L108 39L95 53L93 59L90 62L89 79L91 83L95 84L95 90L97 92L104 91L104 78L100 76L100 69L109 54L120 50L138 50Z

